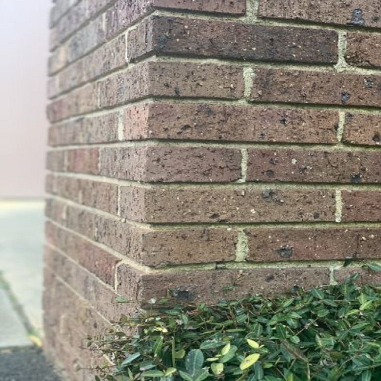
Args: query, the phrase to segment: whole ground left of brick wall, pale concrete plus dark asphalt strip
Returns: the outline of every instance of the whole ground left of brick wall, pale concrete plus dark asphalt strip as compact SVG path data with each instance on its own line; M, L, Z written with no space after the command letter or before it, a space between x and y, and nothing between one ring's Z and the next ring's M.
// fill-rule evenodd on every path
M0 201L0 381L60 381L38 347L43 211L42 200Z

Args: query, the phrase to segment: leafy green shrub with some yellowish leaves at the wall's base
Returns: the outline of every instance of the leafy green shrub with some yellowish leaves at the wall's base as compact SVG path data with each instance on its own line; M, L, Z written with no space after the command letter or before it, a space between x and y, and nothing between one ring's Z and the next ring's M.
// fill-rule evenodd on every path
M380 381L381 287L355 279L124 317L121 330L96 341L116 364L96 379Z

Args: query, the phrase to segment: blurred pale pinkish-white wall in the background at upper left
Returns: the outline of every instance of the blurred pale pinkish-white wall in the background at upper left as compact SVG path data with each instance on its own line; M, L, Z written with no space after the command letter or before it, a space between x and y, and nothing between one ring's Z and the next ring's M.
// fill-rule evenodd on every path
M0 198L40 197L51 0L0 0Z

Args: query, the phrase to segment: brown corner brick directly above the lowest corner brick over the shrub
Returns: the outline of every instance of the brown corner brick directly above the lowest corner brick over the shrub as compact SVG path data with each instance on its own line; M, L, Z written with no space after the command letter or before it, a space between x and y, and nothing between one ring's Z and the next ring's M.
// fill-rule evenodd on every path
M97 242L150 267L235 259L234 229L142 229L97 217Z

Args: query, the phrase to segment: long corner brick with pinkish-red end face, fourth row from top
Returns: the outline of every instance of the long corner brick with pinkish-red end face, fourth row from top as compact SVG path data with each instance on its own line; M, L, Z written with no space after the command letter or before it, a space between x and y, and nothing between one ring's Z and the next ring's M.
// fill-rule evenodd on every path
M338 113L208 104L144 103L125 109L125 138L250 142L337 141Z

